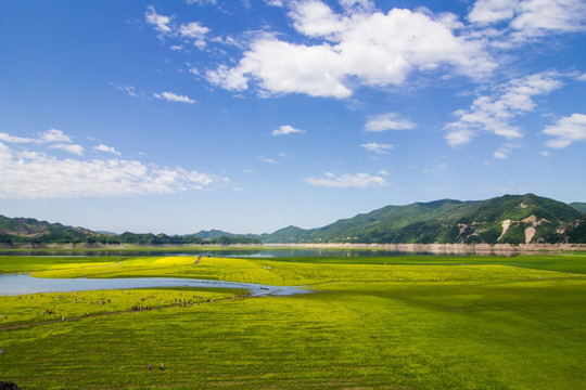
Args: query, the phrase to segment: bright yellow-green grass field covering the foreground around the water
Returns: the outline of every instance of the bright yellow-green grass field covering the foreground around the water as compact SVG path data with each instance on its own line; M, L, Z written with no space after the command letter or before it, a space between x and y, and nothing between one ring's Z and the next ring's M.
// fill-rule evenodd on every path
M313 294L0 297L0 380L23 389L586 388L583 255L195 260L1 257L0 272L215 278Z

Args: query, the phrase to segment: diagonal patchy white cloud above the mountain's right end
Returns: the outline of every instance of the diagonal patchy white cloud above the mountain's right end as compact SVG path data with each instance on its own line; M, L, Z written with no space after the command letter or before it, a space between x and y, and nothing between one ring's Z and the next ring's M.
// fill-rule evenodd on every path
M521 129L511 125L512 119L535 108L534 96L561 88L561 76L546 72L498 86L493 95L476 98L469 109L456 112L458 120L444 126L445 139L450 146L461 146L480 131L507 140L522 138Z

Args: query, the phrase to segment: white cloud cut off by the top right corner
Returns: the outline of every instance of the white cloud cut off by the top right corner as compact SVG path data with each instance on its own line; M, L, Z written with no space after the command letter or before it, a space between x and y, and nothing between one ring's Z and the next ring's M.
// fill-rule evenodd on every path
M584 0L477 0L468 20L480 25L507 23L512 38L586 30Z

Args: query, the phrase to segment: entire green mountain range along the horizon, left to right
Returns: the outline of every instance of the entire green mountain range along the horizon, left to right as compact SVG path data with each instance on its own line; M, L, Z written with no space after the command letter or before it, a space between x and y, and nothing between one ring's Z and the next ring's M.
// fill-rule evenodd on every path
M101 244L586 244L586 203L564 204L534 194L486 200L442 199L386 206L323 227L288 226L270 234L239 235L218 230L187 236L103 234L82 227L0 216L1 243Z

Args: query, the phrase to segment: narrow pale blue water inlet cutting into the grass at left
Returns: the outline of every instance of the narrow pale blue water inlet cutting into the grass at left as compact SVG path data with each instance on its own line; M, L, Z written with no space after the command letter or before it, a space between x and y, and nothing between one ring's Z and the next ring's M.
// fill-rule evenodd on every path
M253 296L288 296L309 292L308 289L293 286L176 277L43 278L33 277L28 274L0 274L0 295L2 296L151 287L233 288L245 289Z

